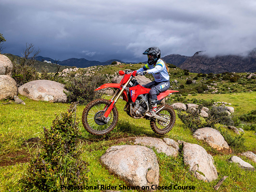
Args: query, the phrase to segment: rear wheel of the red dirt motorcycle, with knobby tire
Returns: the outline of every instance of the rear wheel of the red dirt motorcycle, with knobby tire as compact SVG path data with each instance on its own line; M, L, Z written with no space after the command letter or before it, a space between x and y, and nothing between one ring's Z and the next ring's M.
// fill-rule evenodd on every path
M161 105L160 107L158 107L158 109L159 108L162 108L162 109L157 113L157 115L165 118L167 122L163 122L161 120L151 118L150 127L155 133L159 135L164 135L172 130L172 127L175 124L176 115L172 107L169 105Z

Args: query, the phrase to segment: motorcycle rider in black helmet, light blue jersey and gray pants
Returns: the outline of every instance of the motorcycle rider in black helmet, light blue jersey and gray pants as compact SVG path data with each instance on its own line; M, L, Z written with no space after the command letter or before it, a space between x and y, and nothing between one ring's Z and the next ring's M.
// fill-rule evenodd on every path
M160 49L158 47L149 47L143 55L148 55L148 63L144 67L138 69L137 73L139 75L152 74L155 78L155 81L142 85L145 88L150 88L150 110L145 115L155 116L157 103L156 96L159 93L168 90L170 87L169 69L166 63L160 59Z

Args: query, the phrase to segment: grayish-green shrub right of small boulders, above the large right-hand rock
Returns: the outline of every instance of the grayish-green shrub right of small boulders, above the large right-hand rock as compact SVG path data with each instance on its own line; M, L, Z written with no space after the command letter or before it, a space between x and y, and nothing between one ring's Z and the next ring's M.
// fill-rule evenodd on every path
M223 107L213 107L209 110L208 114L220 124L234 125L232 117L228 115Z

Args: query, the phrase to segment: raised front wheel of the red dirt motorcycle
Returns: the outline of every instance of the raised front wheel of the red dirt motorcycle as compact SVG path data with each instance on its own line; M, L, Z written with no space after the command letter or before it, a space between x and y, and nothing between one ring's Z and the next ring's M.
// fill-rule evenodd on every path
M106 122L99 119L99 117L105 113L110 105L111 101L109 100L96 99L91 101L84 108L82 114L82 123L87 132L93 135L105 135L115 128L118 120L116 106L109 113Z

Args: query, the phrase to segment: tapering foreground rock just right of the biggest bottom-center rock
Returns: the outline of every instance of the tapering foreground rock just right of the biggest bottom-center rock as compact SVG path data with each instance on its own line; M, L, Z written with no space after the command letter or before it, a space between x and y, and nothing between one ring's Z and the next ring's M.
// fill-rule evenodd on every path
M217 170L211 155L197 144L183 142L184 164L189 166L189 171L199 180L211 182L218 178Z

